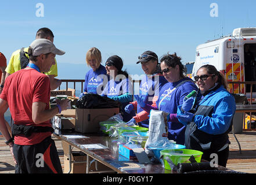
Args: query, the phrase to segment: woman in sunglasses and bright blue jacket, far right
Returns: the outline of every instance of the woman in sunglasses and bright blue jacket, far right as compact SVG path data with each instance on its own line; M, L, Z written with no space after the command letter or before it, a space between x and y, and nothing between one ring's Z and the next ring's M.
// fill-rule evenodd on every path
M218 164L226 166L230 143L228 133L236 110L235 98L226 90L226 80L213 65L201 66L194 79L202 97L197 99L190 112L179 109L176 115L186 125L186 149L203 151L202 158L207 161L213 158L211 154L217 154Z

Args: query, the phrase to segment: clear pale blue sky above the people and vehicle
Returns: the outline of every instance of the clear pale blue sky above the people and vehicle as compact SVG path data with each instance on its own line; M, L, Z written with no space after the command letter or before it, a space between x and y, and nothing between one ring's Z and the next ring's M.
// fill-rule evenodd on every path
M36 16L37 3L44 5L44 17ZM218 17L210 16L211 3L217 3ZM194 61L197 45L234 28L256 27L255 5L254 0L2 1L0 51L9 62L13 51L29 46L37 30L48 27L55 45L66 51L56 57L61 79L84 79L91 47L98 47L103 62L117 54L129 73L142 73L136 60L143 51L158 57L176 52L183 62Z

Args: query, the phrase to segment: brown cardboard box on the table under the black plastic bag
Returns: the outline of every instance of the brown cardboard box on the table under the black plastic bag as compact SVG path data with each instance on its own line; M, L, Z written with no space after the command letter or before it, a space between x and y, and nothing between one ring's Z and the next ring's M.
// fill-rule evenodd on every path
M75 131L81 133L99 132L100 121L106 121L119 113L119 108L75 109Z

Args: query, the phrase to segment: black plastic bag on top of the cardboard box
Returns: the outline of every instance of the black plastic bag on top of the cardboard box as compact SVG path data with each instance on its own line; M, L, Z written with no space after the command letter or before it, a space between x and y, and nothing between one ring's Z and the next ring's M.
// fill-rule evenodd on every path
M121 103L113 99L102 97L98 94L88 93L82 98L77 100L77 108L79 109L108 109L108 108L120 108Z

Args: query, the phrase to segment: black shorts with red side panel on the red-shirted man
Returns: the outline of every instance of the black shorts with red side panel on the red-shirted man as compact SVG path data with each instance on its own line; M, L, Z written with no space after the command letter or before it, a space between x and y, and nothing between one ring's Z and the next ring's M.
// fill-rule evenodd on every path
M63 173L51 136L36 145L14 145L15 173Z

